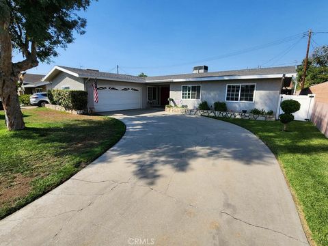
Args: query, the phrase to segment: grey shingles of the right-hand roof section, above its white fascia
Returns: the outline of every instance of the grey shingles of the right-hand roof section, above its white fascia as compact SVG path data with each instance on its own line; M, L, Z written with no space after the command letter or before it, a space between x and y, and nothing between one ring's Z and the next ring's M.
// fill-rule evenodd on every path
M230 71L221 71L221 72L204 72L199 74L190 73L190 74L152 76L152 77L146 77L146 82L169 80L169 79L194 79L194 78L223 77L223 76L289 74L295 72L296 72L295 66L284 66L284 67L275 67L275 68L254 68L254 69L230 70Z

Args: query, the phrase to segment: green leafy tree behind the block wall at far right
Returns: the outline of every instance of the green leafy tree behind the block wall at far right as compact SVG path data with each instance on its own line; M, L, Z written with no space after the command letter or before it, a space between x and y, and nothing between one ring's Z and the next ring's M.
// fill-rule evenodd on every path
M301 85L304 72L303 60L302 65L297 67L297 82ZM328 81L328 46L321 46L314 49L308 59L308 69L306 72L304 87L310 87L318 83Z

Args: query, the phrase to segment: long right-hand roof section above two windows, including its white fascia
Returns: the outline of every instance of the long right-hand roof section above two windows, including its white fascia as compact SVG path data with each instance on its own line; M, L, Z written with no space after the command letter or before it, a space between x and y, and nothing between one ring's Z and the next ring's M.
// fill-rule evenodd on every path
M197 80L221 80L221 79L252 79L258 77L258 79L268 77L282 77L282 74L292 76L296 74L295 66L284 66L275 68L254 68L254 69L242 69L242 70L228 70L221 72L204 72L204 73L190 73L190 74L176 74L176 75L164 75L146 77L147 82L161 82L161 81L197 81ZM295 76L295 75L294 75Z

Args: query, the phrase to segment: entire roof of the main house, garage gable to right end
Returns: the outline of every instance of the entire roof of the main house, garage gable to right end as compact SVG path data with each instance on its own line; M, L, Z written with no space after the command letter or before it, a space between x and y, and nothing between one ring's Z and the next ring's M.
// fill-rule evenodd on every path
M70 68L66 66L55 66L42 81L51 81L59 72L66 72L74 77L86 79L104 79L111 81L124 81L135 83L163 83L182 81L217 81L226 79L268 79L296 76L295 66L284 66L275 68L255 68L243 70L229 70L221 72L204 72L190 74L174 74L153 77L138 77L128 74L115 74L111 72L100 72L98 70Z

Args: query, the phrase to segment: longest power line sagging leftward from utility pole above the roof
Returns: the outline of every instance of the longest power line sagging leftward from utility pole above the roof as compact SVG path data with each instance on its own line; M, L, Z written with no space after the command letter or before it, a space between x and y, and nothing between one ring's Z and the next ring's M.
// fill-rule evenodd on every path
M283 38L281 40L275 40L273 42L269 42L269 43L266 43L266 44L260 44L260 45L257 45L257 46L250 47L248 49L234 51L234 52L231 52L231 53L226 53L226 54L223 54L223 55L217 55L217 56L214 56L214 57L208 57L206 59L202 59L202 60L198 60L198 61L186 62L186 63L182 63L182 64L173 64L173 65L169 65L169 66L149 66L149 67L124 66L124 68L128 68L128 69L172 68L172 67L176 67L176 66L185 66L185 65L196 64L196 63L201 63L201 62L206 62L206 61L213 61L213 60L223 59L223 58L234 56L234 55L241 55L243 53L249 53L251 51L257 51L257 50L260 50L260 49L266 49L266 48L268 48L270 46L284 44L285 42L290 42L290 41L296 40L298 38L303 38L303 37L307 36L307 34L308 34L307 32L298 33L298 34L295 34L293 36L289 36L289 37Z

